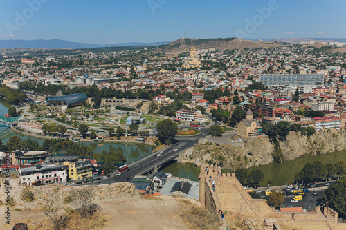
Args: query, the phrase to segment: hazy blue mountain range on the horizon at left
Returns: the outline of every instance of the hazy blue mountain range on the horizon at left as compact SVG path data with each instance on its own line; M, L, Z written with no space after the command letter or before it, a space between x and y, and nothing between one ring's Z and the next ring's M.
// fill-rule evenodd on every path
M52 40L0 40L0 48L98 48L98 47L122 47L122 46L160 46L167 44L169 41L159 41L153 43L141 43L141 42L128 42L118 44L87 44L80 42L64 41L60 39Z

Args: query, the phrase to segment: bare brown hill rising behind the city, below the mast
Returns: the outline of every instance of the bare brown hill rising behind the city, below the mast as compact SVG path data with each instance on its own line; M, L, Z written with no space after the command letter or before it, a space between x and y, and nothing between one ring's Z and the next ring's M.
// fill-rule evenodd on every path
M221 50L234 50L244 48L268 48L277 47L282 44L273 44L267 41L250 41L236 38L227 39L178 39L169 44L158 46L154 52L165 52L169 57L188 52L192 46L197 50L206 48L217 48Z

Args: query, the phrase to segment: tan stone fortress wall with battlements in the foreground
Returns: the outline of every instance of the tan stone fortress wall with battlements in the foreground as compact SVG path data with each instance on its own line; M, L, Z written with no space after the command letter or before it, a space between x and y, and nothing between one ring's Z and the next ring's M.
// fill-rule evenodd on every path
M207 175L206 168L209 173ZM199 175L199 200L206 209L214 212L220 224L226 229L227 225L244 224L248 229L346 229L346 224L338 224L338 213L329 208L326 218L316 207L314 212L291 213L276 211L263 199L253 199L244 186L235 177L235 173L221 173L221 167L204 164ZM215 180L215 191L212 191L210 176ZM221 219L219 210L225 212Z

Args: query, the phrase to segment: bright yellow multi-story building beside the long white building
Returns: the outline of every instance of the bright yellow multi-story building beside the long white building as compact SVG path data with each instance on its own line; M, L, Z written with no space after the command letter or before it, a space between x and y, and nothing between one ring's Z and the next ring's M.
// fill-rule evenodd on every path
M63 162L62 164L69 167L70 180L80 180L83 178L91 178L93 176L94 167L90 160Z

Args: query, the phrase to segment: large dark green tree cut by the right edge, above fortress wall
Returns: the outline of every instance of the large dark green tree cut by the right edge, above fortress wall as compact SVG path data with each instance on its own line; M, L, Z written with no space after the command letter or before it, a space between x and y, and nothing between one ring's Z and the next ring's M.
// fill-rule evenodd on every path
M335 184L331 184L323 197L329 202L329 207L338 212L341 217L346 217L346 181L338 180Z

